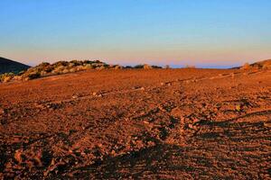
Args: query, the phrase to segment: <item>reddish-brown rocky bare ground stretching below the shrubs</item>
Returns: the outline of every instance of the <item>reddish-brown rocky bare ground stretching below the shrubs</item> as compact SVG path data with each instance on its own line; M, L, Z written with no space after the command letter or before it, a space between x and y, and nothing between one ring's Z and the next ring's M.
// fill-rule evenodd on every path
M3 84L0 122L0 179L270 179L270 70L102 70Z

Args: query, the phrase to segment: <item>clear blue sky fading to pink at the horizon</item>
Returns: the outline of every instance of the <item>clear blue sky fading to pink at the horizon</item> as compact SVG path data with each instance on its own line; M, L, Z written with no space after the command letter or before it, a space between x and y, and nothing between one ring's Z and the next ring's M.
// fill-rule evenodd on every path
M271 58L270 0L0 0L0 57L28 65L235 67Z

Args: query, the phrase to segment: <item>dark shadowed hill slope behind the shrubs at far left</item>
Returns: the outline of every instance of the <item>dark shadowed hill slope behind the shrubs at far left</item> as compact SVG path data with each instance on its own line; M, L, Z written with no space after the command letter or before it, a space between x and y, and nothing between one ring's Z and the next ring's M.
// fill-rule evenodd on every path
M10 73L10 72L20 72L29 68L30 66L24 65L22 63L10 60L7 58L0 57L0 74Z

